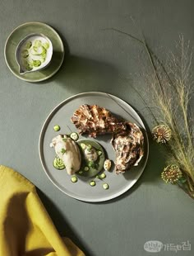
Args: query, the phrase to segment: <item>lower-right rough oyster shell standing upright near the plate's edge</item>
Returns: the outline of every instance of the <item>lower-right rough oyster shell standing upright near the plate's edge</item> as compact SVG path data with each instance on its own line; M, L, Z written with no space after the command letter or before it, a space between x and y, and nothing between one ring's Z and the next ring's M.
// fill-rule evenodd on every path
M125 173L127 169L137 165L143 154L144 137L136 124L126 122L127 130L113 134L111 143L116 152L116 173Z

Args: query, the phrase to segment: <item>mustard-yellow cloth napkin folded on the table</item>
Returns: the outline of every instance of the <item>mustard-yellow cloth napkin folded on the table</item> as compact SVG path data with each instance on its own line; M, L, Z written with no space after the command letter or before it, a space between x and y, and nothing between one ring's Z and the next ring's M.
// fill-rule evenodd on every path
M82 256L62 239L35 186L11 168L0 166L0 256Z

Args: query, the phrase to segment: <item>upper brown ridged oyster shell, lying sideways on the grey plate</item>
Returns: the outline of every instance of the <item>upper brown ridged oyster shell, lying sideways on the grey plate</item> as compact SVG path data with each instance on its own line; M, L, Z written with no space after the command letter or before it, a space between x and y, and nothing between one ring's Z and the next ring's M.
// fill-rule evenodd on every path
M119 122L110 111L98 105L81 105L74 112L71 121L80 134L88 134L94 138L96 135L126 130L126 125L123 122Z

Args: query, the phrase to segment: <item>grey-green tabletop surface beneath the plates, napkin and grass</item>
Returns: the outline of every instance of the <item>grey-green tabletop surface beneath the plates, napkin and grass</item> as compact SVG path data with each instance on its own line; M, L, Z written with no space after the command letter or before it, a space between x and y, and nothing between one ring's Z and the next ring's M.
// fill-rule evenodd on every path
M140 112L146 126L153 126L136 92L149 100L142 72L149 66L144 50L128 36L104 29L135 36L141 36L142 30L164 61L181 33L193 45L193 7L193 1L181 0L1 1L0 163L35 183L60 234L69 236L86 255L152 255L144 250L149 240L166 245L159 255L175 255L173 245L189 241L191 250L178 254L193 255L193 201L159 178L164 156L155 143L150 141L150 157L138 182L106 202L67 197L48 180L39 160L39 133L48 113L80 92L112 93ZM16 78L4 61L7 37L26 21L53 26L66 48L61 69L42 83Z

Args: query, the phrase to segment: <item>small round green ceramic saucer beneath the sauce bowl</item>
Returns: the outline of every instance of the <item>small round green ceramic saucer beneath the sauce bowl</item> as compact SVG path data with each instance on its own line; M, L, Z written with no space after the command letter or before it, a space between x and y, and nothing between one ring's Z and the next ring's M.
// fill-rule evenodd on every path
M32 73L20 74L19 66L16 63L15 57L16 47L19 42L25 38L25 36L32 33L44 34L44 36L47 36L49 40L52 41L53 57L47 68ZM12 31L12 34L7 38L4 49L6 63L12 73L16 75L17 78L32 83L44 81L51 78L53 74L57 73L58 69L60 69L62 65L64 54L65 51L62 44L62 39L60 36L58 36L58 33L54 31L51 26L41 22L28 22L16 27L16 29Z

